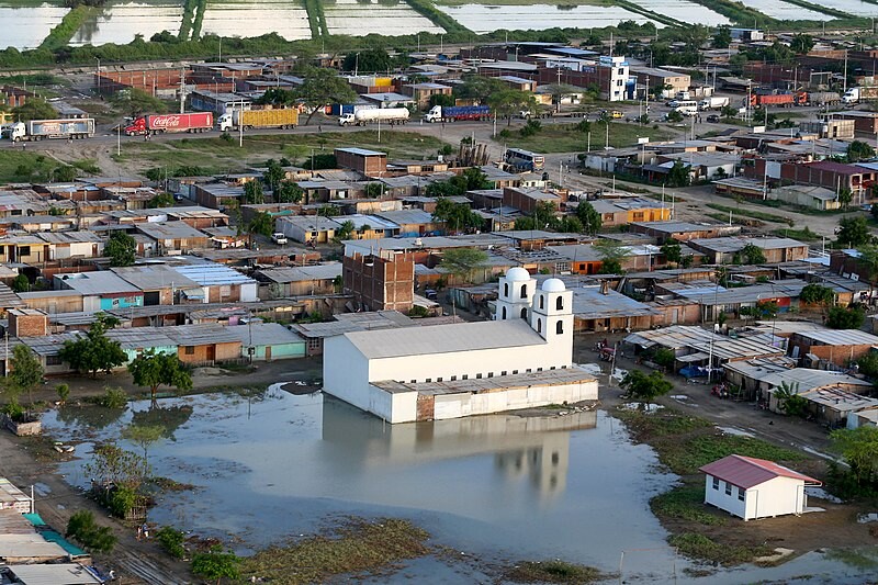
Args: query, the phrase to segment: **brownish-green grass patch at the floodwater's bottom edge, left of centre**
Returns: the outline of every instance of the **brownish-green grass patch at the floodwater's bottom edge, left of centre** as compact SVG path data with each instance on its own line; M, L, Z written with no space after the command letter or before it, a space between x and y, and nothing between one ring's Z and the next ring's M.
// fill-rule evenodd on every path
M279 585L325 583L346 573L365 573L429 553L429 535L408 520L351 518L330 536L314 536L271 547L244 559L241 576Z

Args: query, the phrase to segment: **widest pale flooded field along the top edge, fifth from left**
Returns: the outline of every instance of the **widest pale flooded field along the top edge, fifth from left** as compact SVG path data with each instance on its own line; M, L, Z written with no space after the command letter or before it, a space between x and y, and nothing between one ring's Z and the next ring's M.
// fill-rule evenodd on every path
M653 22L623 8L608 5L463 4L436 8L476 33L491 33L500 29L592 29L614 26L622 21L634 21L639 24ZM654 24L660 29L664 26Z

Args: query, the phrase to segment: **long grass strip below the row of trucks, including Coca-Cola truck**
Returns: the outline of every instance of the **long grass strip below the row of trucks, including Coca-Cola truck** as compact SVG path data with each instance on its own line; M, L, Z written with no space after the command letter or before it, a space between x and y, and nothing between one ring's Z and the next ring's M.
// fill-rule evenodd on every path
M275 134L245 136L244 147L237 139L182 138L167 142L132 140L123 145L119 161L144 161L144 168L201 167L204 172L239 171L248 166L263 164L269 158L289 158L293 164L304 164L315 154L331 153L336 147L359 146L387 153L389 158L435 158L443 143L432 136L406 132L382 132L381 143L375 131L323 134Z

